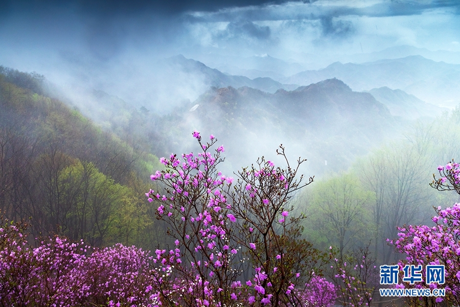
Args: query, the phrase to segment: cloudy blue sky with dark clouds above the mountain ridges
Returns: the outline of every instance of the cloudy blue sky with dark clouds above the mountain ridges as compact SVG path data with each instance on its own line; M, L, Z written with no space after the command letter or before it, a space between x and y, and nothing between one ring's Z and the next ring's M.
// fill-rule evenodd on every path
M459 15L457 0L0 0L0 65L132 91L176 54L214 67L268 54L317 69L401 45L459 52Z

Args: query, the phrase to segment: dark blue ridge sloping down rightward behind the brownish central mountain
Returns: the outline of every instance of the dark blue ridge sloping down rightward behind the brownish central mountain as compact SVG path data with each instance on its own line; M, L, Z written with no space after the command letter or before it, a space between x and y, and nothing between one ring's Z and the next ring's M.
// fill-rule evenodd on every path
M226 75L217 69L209 68L199 61L186 59L183 55L166 59L165 65L168 66L166 71L178 70L183 74L189 75L191 78L198 78L208 87L232 86L238 88L248 86L268 93L274 93L279 89L292 88L292 86L284 85L268 77L249 79L244 76Z

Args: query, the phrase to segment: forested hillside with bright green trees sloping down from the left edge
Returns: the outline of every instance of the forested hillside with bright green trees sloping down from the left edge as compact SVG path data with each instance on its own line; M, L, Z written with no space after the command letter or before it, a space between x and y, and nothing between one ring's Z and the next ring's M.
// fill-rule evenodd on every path
M43 77L0 70L0 208L34 236L153 247L144 193L158 159L44 96Z

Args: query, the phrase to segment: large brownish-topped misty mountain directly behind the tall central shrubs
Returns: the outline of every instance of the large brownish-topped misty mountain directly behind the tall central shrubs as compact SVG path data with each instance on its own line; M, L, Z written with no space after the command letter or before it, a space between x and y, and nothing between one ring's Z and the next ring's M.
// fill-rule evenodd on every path
M198 106L189 111L192 105ZM342 81L328 79L275 93L247 86L214 88L176 112L163 134L184 148L191 144L179 136L193 129L218 136L219 142L233 148L227 158L233 170L282 143L295 159L308 158L309 171L319 175L328 168L346 168L401 126L370 93L354 92Z

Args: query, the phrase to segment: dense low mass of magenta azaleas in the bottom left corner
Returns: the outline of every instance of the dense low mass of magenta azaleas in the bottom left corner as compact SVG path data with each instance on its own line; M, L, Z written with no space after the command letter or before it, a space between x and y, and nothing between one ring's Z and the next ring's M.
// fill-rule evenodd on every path
M93 251L58 236L32 248L26 226L0 223L0 305L151 305L148 253L122 245Z

